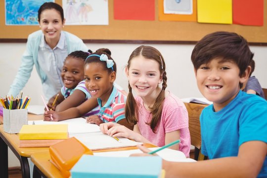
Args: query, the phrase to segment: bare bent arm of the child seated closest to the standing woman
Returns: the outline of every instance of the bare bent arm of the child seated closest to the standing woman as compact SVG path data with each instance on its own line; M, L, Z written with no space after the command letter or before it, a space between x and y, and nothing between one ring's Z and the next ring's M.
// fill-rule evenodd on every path
M71 95L69 95L66 99L64 99L60 104L56 106L55 111L61 112L72 107L77 107L82 104L85 99L86 94L80 89L76 89Z

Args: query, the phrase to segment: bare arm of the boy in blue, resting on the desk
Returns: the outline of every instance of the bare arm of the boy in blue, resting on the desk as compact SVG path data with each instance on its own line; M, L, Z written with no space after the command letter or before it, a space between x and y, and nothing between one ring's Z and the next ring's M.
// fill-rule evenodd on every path
M166 171L166 178L255 178L262 169L266 155L267 143L248 141L239 147L237 157L225 157L194 163L177 163L163 160L163 169Z

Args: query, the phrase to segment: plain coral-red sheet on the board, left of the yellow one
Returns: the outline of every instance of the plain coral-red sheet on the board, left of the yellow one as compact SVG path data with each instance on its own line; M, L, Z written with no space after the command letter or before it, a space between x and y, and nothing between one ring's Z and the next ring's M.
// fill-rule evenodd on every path
M155 20L155 0L114 0L116 20Z

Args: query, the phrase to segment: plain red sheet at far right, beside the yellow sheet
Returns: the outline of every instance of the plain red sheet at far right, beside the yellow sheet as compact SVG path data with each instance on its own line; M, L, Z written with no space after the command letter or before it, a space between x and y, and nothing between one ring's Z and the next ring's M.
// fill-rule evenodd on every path
M233 23L264 25L264 0L233 0Z

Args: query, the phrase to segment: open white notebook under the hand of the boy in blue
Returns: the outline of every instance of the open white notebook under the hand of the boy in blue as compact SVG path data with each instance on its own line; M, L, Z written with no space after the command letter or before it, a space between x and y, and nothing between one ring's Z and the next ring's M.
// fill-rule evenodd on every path
M151 151L154 151L156 149L159 149L159 147L148 148L148 149L150 149ZM93 155L106 156L106 157L129 157L131 154L134 154L134 153L142 153L142 151L139 149L134 149L134 150L126 150L126 151L98 152L98 153L93 153ZM183 152L169 149L169 148L160 150L156 154L166 161L196 162L195 160L191 158L186 158Z

